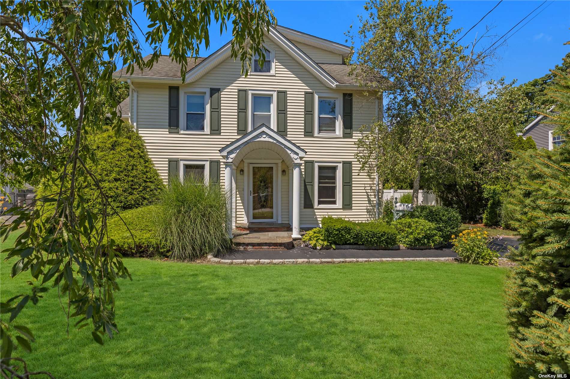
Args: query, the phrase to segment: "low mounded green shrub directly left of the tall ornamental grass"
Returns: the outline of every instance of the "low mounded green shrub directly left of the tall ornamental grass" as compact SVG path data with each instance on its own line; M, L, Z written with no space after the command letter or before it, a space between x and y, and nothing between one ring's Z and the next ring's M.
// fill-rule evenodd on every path
M115 216L109 220L109 238L115 240L113 250L124 257L168 256L169 251L157 234L156 215L159 212L160 205L148 205L121 212L120 218Z

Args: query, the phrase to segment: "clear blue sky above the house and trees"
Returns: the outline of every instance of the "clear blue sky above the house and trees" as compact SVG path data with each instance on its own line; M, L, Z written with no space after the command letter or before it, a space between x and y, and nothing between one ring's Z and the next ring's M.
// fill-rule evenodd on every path
M469 30L484 14L496 5L492 1L447 1L451 9L454 28ZM499 4L481 23L462 39L469 42L475 35L481 35L486 27L492 27L491 35L502 36L543 1L508 1ZM321 38L344 43L344 33L351 24L357 27L357 15L364 12L363 1L267 1L275 11L279 24ZM543 10L544 9L544 10ZM508 39L507 44L496 52L499 60L490 71L491 79L505 76L507 81L518 79L518 83L543 76L549 68L560 64L562 57L570 51L564 42L570 40L570 1L548 0L534 14L524 20L511 32L518 30L530 18L539 13L526 26ZM141 12L136 13L144 18ZM142 20L141 20L142 21ZM146 24L140 22L141 27ZM462 34L460 34L462 35ZM507 35L508 36L508 35ZM219 28L211 28L210 49L201 48L200 56L207 56L231 39L231 31L219 35ZM486 46L494 42L489 39ZM149 50L150 51L150 50ZM168 49L162 53L168 54Z

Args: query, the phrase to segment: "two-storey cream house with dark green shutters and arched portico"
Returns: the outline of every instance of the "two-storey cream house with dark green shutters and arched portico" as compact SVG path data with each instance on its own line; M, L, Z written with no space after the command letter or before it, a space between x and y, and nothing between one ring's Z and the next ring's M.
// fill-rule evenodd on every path
M263 67L254 59L247 77L230 43L188 58L184 83L168 56L145 72L117 71L130 86L123 117L165 182L193 174L225 188L230 236L236 225L272 223L299 238L323 216L372 218L374 178L359 174L355 142L381 113L381 91L365 95L348 75L343 44L276 26L264 48Z

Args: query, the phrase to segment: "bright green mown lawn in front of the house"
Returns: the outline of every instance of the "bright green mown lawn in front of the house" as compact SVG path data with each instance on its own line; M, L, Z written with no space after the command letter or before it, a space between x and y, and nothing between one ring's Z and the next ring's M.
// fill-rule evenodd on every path
M30 370L82 379L509 375L500 267L126 261L133 281L121 279L117 294L120 334L102 347L88 328L66 336L56 290L22 311L18 324L36 336L22 353ZM0 266L2 300L29 279L10 279L10 266Z

